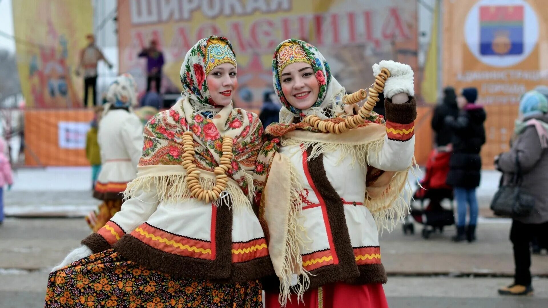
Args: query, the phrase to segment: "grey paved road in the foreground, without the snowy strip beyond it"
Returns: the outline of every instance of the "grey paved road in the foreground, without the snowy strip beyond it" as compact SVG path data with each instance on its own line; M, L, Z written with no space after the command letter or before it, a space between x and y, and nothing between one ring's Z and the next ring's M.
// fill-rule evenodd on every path
M504 277L513 269L508 230L505 221L482 221L474 244L450 243L452 230L428 241L404 236L399 228L384 233L390 307L546 307L548 278L535 278L530 298L496 294L511 282ZM0 307L41 307L49 269L88 233L81 218L8 218L0 226ZM533 258L533 272L548 275L547 255ZM478 277L486 274L503 277Z

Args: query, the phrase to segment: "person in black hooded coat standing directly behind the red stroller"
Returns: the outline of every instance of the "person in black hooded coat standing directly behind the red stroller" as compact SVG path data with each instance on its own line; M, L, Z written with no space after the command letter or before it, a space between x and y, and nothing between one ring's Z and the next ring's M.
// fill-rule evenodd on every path
M445 122L447 116L459 116L459 107L456 105L456 94L453 87L443 89L443 101L436 106L432 116L432 129L436 132L436 146L447 146L453 138L453 129Z

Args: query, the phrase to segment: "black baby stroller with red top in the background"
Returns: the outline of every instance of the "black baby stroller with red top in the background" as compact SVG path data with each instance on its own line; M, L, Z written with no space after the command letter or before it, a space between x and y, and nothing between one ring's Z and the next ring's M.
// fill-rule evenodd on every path
M443 233L445 226L455 223L453 214L453 189L446 184L447 174L449 173L449 158L451 152L447 149L435 149L430 153L426 163L426 174L420 181L420 186L413 194L415 202L411 204L411 215L413 219L423 224L421 235L427 239L433 232L438 230ZM445 209L441 203L448 199L451 207ZM428 202L425 207L426 202ZM416 205L419 205L417 207ZM415 227L409 216L404 219L403 233L414 234Z

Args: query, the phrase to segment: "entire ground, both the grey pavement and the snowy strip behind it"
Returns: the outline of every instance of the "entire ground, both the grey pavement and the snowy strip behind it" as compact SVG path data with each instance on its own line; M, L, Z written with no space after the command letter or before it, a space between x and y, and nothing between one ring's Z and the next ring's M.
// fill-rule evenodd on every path
M533 256L535 295L504 298L496 289L512 281L510 220L489 219L498 172L483 172L478 189L478 241L452 243L453 227L430 239L403 235L401 226L381 237L389 273L390 307L546 307L548 256ZM82 215L99 203L91 196L89 168L25 169L5 192L0 226L0 307L42 307L49 269L89 234ZM59 218L58 216L80 217ZM26 217L26 218L21 218ZM33 218L32 218L33 217Z

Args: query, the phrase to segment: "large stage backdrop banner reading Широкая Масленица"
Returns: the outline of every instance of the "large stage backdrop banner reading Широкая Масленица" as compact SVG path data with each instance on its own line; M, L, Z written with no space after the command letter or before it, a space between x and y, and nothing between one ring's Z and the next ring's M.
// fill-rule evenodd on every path
M405 0L128 0L118 2L119 64L145 87L139 51L152 39L163 50L164 92L181 91L179 69L198 39L226 36L238 59L239 107L259 109L272 89L272 53L287 38L315 44L348 90L374 81L371 66L395 59L414 67L416 3Z

